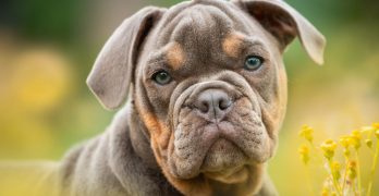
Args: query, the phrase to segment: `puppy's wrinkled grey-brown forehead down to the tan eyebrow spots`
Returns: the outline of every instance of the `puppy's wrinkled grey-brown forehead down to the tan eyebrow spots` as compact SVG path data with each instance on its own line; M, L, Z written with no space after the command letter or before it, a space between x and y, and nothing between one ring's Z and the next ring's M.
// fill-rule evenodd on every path
M270 42L260 24L229 1L178 4L164 14L156 30L150 58L164 56L174 69L184 60L206 62L222 53L237 58L246 42Z

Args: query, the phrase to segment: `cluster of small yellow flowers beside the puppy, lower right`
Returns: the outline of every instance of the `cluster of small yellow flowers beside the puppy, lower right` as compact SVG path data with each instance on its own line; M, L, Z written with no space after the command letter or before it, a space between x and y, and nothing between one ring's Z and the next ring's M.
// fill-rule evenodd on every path
M322 161L326 163L328 176L325 180L321 191L322 196L328 195L371 195L375 173L379 159L379 123L371 126L364 126L354 130L350 135L343 135L337 143L333 139L326 139L319 147L314 145L314 128L304 125L299 136L306 140L298 149L301 160L307 167L311 157L322 154ZM363 143L365 148L363 147ZM374 144L376 147L374 148ZM313 151L310 151L311 147ZM363 186L359 166L359 150L369 150L372 155L372 163L367 188ZM342 152L343 161L339 160L337 154ZM354 152L354 154L352 154Z

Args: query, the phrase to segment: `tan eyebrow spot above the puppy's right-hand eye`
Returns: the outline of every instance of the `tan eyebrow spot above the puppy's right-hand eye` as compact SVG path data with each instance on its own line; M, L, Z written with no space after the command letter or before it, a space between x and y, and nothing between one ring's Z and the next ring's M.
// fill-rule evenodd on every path
M222 42L222 50L231 58L237 58L241 53L242 35L230 34Z

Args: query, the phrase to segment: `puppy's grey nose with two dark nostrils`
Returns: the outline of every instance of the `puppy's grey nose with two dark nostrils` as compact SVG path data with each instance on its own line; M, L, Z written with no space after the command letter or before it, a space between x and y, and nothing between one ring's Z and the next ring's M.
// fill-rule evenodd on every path
M201 113L206 114L210 119L221 119L228 113L232 106L231 97L221 89L207 89L201 91L195 102Z

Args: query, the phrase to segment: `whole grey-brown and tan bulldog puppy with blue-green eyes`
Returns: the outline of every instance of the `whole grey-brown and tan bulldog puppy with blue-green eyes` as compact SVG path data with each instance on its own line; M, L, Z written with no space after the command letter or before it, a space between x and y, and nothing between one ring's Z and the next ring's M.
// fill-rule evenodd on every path
M59 193L276 195L266 162L296 36L321 64L323 36L279 0L194 0L126 19L87 79L103 107L122 109L66 155Z

